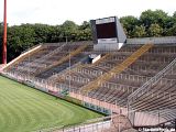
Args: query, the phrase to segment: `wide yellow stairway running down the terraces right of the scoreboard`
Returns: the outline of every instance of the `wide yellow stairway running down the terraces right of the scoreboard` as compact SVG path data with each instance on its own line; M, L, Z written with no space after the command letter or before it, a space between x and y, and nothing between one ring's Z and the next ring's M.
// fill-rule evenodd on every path
M108 81L114 75L120 74L125 68L128 68L131 64L133 64L140 56L142 56L145 52L153 47L153 44L145 44L140 47L136 52L134 52L130 57L124 59L121 64L117 65L114 68L98 77L94 81L90 81L88 85L81 88L81 92L87 94L94 89L97 89L102 82Z

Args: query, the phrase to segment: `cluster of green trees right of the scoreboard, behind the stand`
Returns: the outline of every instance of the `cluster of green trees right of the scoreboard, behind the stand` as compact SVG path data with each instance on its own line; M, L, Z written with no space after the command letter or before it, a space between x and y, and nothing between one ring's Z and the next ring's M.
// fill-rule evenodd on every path
M131 15L122 16L120 22L128 37L175 35L176 11L170 16L162 10L146 10L139 19Z

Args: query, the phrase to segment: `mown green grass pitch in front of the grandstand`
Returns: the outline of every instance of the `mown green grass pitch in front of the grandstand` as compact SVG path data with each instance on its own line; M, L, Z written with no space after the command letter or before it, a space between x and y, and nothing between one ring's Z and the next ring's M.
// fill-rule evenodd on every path
M0 132L31 132L102 117L0 76Z

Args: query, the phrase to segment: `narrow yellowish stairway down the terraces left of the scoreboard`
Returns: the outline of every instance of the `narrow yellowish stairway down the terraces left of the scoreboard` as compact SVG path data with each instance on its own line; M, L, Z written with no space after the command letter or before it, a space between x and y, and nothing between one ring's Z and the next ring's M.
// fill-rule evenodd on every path
M62 57L58 62L54 63L53 65L50 65L48 67L44 67L44 68L40 69L33 76L37 76L41 73L46 72L47 69L53 68L53 67L55 67L55 66L68 61L70 57L73 57L73 56L79 54L80 52L82 52L87 46L88 46L87 44L79 46L76 51L70 52L70 54L68 54L67 56Z

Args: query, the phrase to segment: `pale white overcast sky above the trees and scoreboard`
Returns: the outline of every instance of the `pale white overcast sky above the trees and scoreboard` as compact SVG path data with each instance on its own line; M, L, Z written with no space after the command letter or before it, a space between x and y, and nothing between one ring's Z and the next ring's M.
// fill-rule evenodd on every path
M66 20L82 21L106 16L139 16L147 9L162 9L169 15L176 11L176 0L7 0L8 23L62 24ZM0 0L0 21L3 0Z

